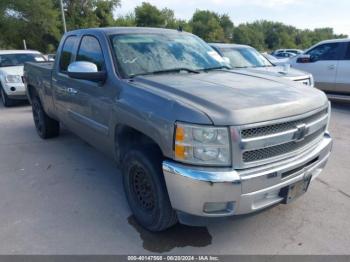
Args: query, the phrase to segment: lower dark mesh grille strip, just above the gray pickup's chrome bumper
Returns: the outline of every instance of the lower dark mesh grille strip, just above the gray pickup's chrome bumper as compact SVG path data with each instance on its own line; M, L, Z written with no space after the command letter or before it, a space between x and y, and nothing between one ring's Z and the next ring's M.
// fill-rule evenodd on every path
M273 158L276 156L284 155L287 153L292 153L298 149L301 149L314 141L316 138L320 137L326 131L326 126L318 130L317 132L307 136L302 141L292 141L285 144L261 148L257 150L246 151L243 153L243 161L246 163L255 162L259 160L264 160L268 158Z

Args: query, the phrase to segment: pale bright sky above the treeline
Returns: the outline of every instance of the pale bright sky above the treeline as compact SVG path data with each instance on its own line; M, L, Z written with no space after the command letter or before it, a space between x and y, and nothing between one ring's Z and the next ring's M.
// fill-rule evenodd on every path
M235 25L256 20L278 21L300 29L332 27L350 37L350 0L122 0L115 15L132 12L143 1L190 19L196 9L228 14Z

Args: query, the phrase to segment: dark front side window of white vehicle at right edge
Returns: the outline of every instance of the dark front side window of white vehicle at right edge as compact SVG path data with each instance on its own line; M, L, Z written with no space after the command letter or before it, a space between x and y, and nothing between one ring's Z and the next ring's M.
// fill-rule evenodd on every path
M307 52L312 62L325 60L339 60L342 51L341 43L328 43L316 46Z

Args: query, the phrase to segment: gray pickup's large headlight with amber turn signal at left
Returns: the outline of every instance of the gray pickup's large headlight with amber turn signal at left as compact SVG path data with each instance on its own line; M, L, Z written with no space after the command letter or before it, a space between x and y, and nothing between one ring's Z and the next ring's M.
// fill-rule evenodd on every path
M229 166L228 128L177 123L175 160L195 165Z

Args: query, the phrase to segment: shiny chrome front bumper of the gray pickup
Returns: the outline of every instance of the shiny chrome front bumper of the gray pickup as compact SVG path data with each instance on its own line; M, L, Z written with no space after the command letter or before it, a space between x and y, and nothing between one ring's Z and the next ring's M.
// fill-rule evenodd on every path
M282 202L280 191L325 167L332 139L322 141L297 157L245 170L197 168L171 161L163 162L163 173L173 208L199 217L226 217L255 212ZM221 211L207 207L225 205Z

